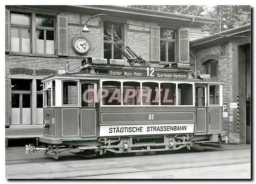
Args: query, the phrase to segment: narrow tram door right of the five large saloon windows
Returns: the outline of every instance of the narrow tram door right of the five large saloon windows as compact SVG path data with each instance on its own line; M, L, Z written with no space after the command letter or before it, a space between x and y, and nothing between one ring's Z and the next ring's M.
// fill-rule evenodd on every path
M207 85L195 84L196 87L196 133L206 134L207 132Z

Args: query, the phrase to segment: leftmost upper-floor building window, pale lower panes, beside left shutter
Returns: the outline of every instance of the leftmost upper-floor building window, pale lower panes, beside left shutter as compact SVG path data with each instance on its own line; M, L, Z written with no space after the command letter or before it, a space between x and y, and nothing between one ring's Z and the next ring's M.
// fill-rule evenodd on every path
M11 52L31 53L31 15L11 13Z

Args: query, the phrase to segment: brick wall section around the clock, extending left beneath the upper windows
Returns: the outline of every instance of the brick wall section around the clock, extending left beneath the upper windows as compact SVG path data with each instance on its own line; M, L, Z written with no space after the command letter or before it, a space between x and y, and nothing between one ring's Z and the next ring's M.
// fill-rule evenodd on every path
M100 27L98 26L99 18L96 17L90 20L88 26L93 25L94 27L90 28L91 32L82 33L82 27L75 26L80 21L80 15L78 14L68 14L68 13L60 13L60 15L68 16L69 27L68 27L68 52L69 56L59 57L59 58L51 58L51 57L33 57L33 56L16 56L16 55L5 55L5 76L10 75L10 68L16 67L25 67L32 70L38 70L43 68L49 68L51 70L65 70L66 62L70 64L70 70L74 70L81 64L81 61L84 57L95 57L100 58ZM82 19L83 17L81 17ZM71 26L70 26L71 25ZM86 56L78 55L74 52L72 43L73 39L78 36L83 35L86 36L89 42L91 43L91 49L87 53ZM74 70L78 71L78 70ZM33 74L35 75L35 73Z

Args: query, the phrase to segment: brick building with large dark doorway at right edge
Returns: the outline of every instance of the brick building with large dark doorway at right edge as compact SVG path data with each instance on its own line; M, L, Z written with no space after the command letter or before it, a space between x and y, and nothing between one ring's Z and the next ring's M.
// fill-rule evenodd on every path
M190 41L190 64L195 64L196 75L210 74L225 82L223 104L227 105L227 115L223 115L223 124L229 142L234 143L250 142L250 35L249 24Z

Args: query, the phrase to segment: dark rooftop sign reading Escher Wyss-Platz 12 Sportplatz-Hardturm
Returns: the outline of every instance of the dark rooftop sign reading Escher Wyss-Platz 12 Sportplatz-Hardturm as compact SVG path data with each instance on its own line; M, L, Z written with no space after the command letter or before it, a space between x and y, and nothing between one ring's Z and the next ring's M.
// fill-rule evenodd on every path
M126 77L155 77L169 79L187 79L187 74L156 72L154 67L147 67L146 71L122 71L109 70L111 76L126 76Z

